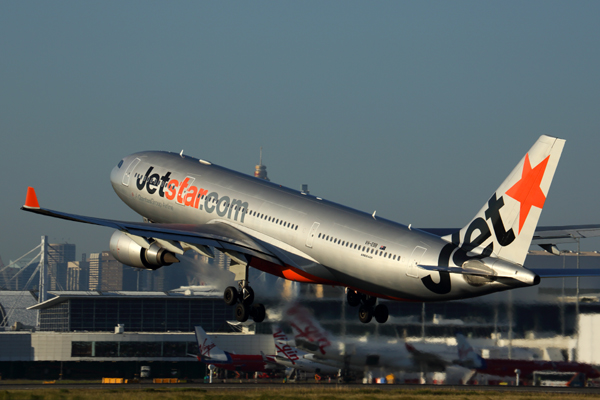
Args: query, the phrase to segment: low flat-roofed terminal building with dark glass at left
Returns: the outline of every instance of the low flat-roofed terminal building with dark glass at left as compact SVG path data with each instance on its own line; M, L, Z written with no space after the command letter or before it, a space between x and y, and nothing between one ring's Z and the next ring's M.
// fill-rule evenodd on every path
M220 292L51 294L55 297L37 304L31 292L0 292L3 317L14 320L0 333L2 378L133 378L141 366L150 366L155 377L201 379L205 365L193 357L197 325L221 331L213 339L230 351L273 352L270 335L232 331L227 321L235 319L233 308ZM6 298L13 300L12 309ZM34 329L29 324L35 325L36 316Z

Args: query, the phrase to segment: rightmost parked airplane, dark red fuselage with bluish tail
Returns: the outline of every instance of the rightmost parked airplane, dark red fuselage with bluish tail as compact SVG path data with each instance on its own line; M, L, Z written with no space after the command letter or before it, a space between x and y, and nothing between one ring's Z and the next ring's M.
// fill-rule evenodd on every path
M533 379L535 371L573 372L582 373L587 379L600 378L600 370L589 364L573 361L484 359L475 352L464 335L457 334L456 341L458 360L455 363L482 374L512 377L518 369L520 376L528 380Z

